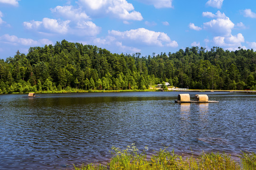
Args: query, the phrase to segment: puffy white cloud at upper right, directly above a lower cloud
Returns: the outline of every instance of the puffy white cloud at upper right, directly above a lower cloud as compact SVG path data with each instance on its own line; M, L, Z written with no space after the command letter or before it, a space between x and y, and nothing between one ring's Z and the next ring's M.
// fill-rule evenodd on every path
M234 26L234 23L232 23L228 17L225 17L213 19L207 23L204 23L203 28L205 30L209 30L213 34L220 36L230 36Z

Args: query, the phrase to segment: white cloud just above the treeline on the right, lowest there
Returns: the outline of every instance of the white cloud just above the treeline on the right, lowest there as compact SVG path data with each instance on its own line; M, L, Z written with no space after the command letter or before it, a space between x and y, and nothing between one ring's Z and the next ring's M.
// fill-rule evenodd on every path
M234 49L237 49L237 47L241 47L242 42L245 42L245 38L241 33L235 36L233 35L230 35L228 37L216 36L213 38L214 45L224 47L230 51L234 51Z

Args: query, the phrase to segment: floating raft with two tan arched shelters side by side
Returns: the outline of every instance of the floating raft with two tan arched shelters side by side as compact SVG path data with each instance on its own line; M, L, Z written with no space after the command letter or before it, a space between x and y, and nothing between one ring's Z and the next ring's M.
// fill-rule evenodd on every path
M179 94L178 100L175 100L178 103L191 103L191 102L218 102L218 101L209 101L208 95L206 94L196 94L195 100L190 100L190 94Z

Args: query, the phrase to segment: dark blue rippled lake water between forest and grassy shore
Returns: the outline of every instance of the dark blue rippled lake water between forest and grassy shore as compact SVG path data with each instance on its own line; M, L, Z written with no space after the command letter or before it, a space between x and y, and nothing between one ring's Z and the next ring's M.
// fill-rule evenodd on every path
M0 95L0 170L104 163L112 146L237 155L256 152L256 94L204 93L219 103L174 103L178 92ZM190 97L197 93L190 93Z

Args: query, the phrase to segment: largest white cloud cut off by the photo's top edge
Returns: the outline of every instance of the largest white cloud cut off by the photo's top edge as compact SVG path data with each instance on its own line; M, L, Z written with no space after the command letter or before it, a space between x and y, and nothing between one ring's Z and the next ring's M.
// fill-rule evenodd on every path
M87 9L86 12L90 16L94 15L110 15L123 20L137 20L143 19L140 12L134 10L131 3L126 0L78 0L82 8Z

